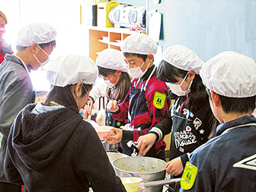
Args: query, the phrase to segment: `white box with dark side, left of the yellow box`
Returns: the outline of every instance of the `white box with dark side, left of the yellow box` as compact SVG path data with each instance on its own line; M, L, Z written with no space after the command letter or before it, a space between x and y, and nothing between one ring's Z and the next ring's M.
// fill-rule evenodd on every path
M80 5L80 24L97 26L97 5Z

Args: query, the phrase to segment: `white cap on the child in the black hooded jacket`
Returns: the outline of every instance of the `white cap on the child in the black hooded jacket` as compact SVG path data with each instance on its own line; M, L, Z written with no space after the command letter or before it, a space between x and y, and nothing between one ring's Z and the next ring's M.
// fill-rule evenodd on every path
M88 56L59 56L46 68L46 78L50 84L59 87L74 85L78 82L92 85L97 77L98 68Z

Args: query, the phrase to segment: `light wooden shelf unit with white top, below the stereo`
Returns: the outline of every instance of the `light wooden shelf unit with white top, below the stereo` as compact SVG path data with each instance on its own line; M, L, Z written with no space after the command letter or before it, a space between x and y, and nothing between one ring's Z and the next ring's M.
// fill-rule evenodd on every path
M141 31L132 31L127 28L114 28L114 27L89 26L88 30L89 30L89 56L94 61L96 60L98 53L101 52L102 50L105 50L105 49L120 50L121 43L126 37L134 33L141 33ZM103 40L102 37L108 37L108 38L107 40Z

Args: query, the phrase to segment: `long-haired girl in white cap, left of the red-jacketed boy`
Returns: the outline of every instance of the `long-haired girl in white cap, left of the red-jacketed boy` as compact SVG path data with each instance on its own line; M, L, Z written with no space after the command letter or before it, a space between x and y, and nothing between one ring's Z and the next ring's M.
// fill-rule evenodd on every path
M98 82L92 88L90 97L96 100L100 96L106 96L108 101L123 101L131 85L131 78L123 54L120 50L103 50L96 58L96 65L104 84ZM89 114L89 111L86 111L86 114ZM114 120L109 113L107 114L106 125L120 127L123 123Z

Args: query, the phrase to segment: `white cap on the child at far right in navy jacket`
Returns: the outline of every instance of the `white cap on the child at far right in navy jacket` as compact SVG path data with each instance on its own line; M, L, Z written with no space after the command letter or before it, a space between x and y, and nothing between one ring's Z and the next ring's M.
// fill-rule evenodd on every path
M227 51L213 56L203 65L200 76L216 94L228 98L256 95L256 63L240 53Z

